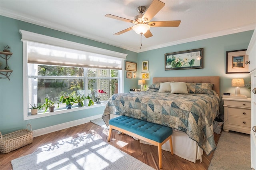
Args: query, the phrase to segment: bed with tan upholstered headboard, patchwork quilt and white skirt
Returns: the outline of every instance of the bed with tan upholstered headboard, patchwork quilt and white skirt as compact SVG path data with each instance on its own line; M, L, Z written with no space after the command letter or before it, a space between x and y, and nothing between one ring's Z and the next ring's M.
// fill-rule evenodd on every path
M125 115L171 127L174 154L202 162L203 151L216 148L212 123L219 113L220 77L154 77L152 83L148 91L112 95L102 115L106 125L110 115ZM178 93L163 91L164 85ZM170 151L168 145L162 149Z

